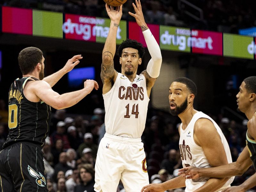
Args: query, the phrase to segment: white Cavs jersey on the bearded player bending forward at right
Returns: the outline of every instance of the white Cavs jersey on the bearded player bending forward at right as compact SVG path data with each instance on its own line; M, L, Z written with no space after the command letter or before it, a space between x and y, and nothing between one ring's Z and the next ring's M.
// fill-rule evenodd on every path
M208 115L204 114L203 112L197 112L192 117L191 121L189 122L189 124L185 130L182 129L182 124L180 125L179 147L180 147L180 156L181 156L181 160L182 160L182 166L183 167L195 166L195 167L199 167L199 168L211 167L211 165L209 164L208 160L206 159L206 157L204 155L203 148L198 146L194 140L194 125L199 118L206 118L206 119L209 119L210 121L212 121L217 132L220 135L221 142L222 142L223 147L226 152L228 163L232 163L232 158L231 158L231 153L229 150L228 142L227 142L225 136L223 135L220 127ZM209 137L211 137L211 136L209 135ZM197 188L200 188L202 185L204 185L204 183L208 179L209 178L199 178L199 180L187 179L185 191L190 192L190 191L196 190ZM233 180L234 180L234 177L231 177L221 188L228 187L232 183Z

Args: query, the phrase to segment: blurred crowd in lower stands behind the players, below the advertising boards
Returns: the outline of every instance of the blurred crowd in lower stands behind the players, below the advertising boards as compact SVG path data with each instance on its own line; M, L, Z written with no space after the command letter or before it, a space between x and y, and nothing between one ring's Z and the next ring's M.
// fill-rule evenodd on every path
M8 114L0 100L0 115ZM247 120L231 120L223 115L210 115L228 140L233 162L245 147ZM8 119L7 119L8 120ZM161 183L177 177L182 167L179 149L179 118L149 109L142 142L147 158L150 183ZM7 137L8 121L0 118L0 148ZM47 183L51 192L93 192L94 165L100 139L105 133L104 109L95 108L90 119L68 114L65 109L52 114L51 131L43 147ZM250 167L237 176L232 185L239 185L254 173ZM118 192L124 192L122 182ZM169 190L183 192L184 188ZM251 190L253 191L253 190Z

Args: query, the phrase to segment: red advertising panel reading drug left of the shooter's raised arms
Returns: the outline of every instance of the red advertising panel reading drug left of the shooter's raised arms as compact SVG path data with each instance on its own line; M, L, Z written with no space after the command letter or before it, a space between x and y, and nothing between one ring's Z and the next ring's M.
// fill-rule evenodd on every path
M96 17L65 14L65 22L62 29L66 39L96 41L93 36L93 27L97 24Z

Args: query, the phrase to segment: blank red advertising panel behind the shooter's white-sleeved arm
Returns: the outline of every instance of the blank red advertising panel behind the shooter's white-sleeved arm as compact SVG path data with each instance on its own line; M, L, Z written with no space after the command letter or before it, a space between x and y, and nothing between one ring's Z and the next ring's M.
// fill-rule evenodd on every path
M159 44L159 25L147 24L151 33L156 39L156 42ZM142 34L140 26L136 22L129 21L129 39L134 39L139 43L143 44L144 47L147 47L144 36Z

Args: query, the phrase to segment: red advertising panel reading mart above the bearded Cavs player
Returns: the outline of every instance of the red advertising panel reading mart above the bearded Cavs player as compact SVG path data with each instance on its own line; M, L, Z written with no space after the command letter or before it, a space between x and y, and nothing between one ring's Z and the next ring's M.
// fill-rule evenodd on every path
M222 56L222 44L222 33L196 29L191 30L190 46L192 53Z

